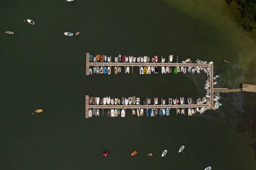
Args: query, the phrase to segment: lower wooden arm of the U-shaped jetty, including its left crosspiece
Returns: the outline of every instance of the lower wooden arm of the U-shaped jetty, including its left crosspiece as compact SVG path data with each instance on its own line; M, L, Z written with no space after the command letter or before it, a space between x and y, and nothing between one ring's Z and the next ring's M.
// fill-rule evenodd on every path
M89 96L85 96L85 118L89 118L89 109L182 109L196 107L210 107L211 104L174 104L174 105L90 105Z

